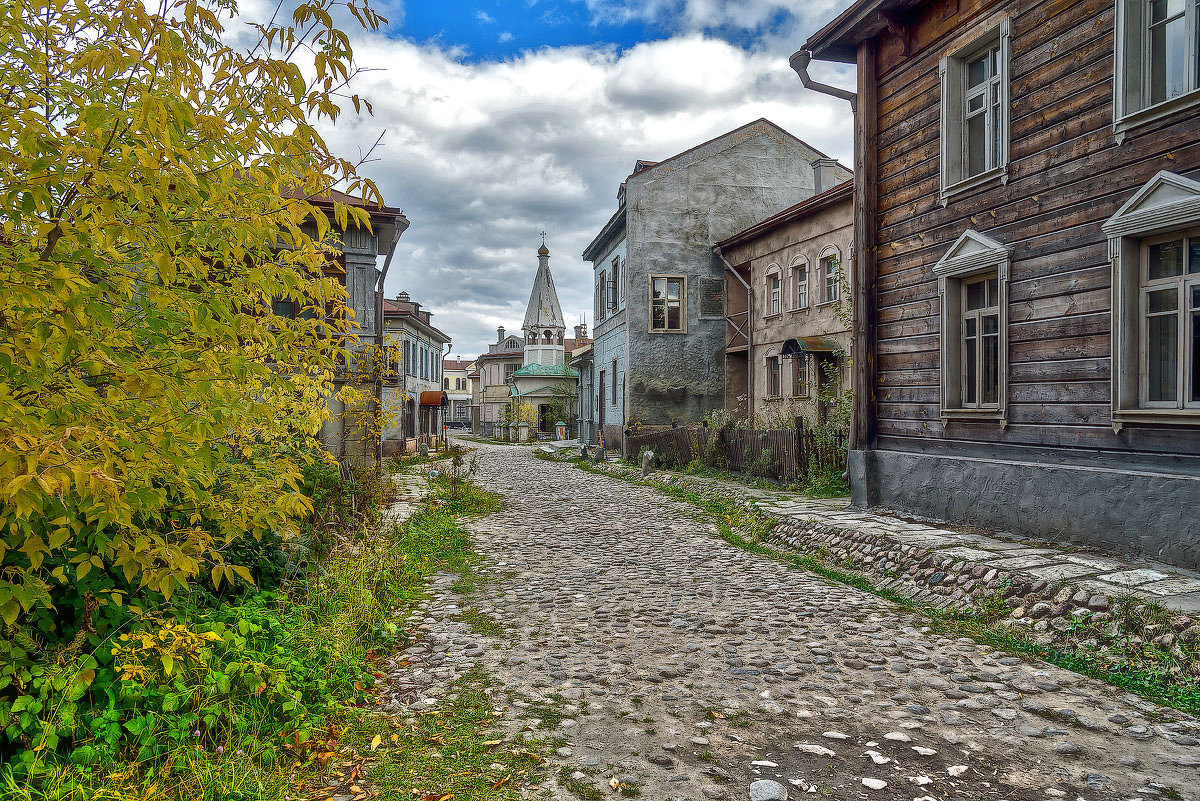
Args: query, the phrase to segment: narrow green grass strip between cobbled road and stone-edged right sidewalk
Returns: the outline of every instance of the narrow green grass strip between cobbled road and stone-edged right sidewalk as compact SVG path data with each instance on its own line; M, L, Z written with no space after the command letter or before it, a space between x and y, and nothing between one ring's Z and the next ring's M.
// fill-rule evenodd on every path
M540 458L548 458L535 454ZM599 470L583 459L570 462L587 472L619 478L643 487L652 487L664 495L689 502L702 510L720 531L722 540L752 554L781 561L791 567L803 568L822 578L870 592L881 598L929 619L935 631L943 634L970 637L973 640L992 648L1039 658L1067 670L1098 679L1126 692L1140 695L1156 704L1170 706L1184 712L1200 712L1200 683L1178 681L1165 670L1147 669L1132 664L1114 664L1111 658L1081 651L1069 651L1033 642L1024 633L995 625L1007 614L1000 613L995 604L968 610L950 610L930 607L904 596L894 590L876 586L860 573L852 573L829 567L822 560L809 554L782 552L766 543L778 520L749 510L740 504L719 495L703 495L694 489L677 484L660 484L654 481L636 478L620 474Z

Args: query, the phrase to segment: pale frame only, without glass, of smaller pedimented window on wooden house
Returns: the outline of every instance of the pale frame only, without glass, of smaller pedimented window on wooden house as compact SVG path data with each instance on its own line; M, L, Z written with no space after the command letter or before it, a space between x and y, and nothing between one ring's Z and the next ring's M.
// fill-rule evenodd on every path
M967 230L934 265L941 302L941 417L952 420L996 420L1008 426L1008 275L1012 249L976 230ZM996 375L996 401L992 406L967 406L962 384L962 309L964 289L972 278L996 277L1000 307L1000 365Z

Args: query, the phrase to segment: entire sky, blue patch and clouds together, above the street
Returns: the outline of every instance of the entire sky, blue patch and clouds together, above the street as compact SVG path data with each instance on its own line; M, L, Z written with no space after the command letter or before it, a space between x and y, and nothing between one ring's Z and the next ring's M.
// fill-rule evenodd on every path
M376 4L378 6L378 0ZM386 293L408 291L472 357L518 329L547 231L568 320L592 325L580 254L637 158L661 161L757 118L851 163L848 106L787 56L848 0L407 0L355 34L373 68L329 139L412 219ZM245 12L244 7L244 12ZM816 66L853 86L851 70Z

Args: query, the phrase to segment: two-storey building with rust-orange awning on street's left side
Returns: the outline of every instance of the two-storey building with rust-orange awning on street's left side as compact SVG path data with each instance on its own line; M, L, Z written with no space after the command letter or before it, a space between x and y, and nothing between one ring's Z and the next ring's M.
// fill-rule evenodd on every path
M384 300L384 344L395 360L397 380L384 387L384 456L413 447L442 429L449 397L442 389L442 359L450 337L431 323L432 314L400 293Z

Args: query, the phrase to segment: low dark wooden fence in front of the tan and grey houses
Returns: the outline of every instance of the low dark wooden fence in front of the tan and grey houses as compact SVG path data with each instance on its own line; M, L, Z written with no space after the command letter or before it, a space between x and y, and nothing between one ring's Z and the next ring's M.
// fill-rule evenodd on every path
M716 440L709 446L713 436ZM665 466L700 459L709 466L786 483L804 478L810 466L845 470L846 447L845 436L818 440L803 424L775 429L727 428L715 434L708 428L672 428L625 438L625 453L631 458L647 448L654 451L655 460Z

